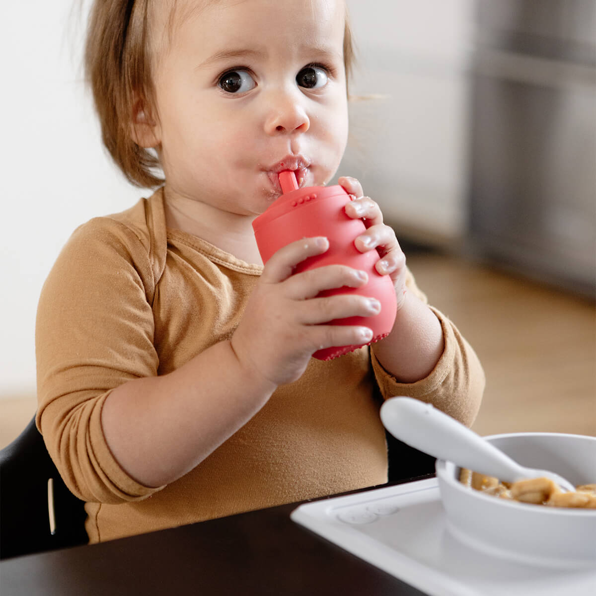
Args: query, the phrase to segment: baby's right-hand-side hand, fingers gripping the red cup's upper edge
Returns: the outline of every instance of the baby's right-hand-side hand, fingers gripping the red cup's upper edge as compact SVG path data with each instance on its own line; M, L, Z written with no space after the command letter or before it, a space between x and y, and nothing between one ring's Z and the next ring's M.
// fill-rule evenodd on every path
M365 197L362 186L355 178L342 176L338 180L352 201L346 205L346 215L350 218L361 218L367 231L356 238L354 244L361 253L377 249L379 260L375 268L381 275L388 274L398 300L398 311L403 306L406 291L406 257L399 247L395 232L383 224L383 213L378 204L370 197Z

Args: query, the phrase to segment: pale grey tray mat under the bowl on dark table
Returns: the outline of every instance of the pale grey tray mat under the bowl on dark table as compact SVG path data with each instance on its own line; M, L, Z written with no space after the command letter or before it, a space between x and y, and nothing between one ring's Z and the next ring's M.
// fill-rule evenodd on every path
M596 569L529 566L457 541L436 479L300 505L291 519L430 596L596 594Z

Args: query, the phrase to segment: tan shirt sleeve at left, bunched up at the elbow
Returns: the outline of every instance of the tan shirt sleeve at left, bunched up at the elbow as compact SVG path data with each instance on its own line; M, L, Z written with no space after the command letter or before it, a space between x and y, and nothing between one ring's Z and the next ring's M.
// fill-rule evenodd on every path
M111 390L157 375L149 249L121 222L93 219L72 235L42 288L36 422L64 482L84 501L132 501L159 490L120 467L101 426Z

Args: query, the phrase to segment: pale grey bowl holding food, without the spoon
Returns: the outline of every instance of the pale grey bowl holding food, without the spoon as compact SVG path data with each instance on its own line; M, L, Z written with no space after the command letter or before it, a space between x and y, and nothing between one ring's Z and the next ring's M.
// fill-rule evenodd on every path
M573 485L596 483L596 437L512 433L485 437L522 465L551 470ZM596 567L596 510L500 499L462 485L460 468L437 460L449 531L468 547L523 563Z

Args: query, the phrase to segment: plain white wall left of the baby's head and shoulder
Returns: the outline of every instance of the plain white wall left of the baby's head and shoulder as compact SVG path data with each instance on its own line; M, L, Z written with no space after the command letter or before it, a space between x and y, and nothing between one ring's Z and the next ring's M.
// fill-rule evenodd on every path
M105 156L79 69L75 0L2 2L0 397L35 389L36 305L73 229L142 191Z

